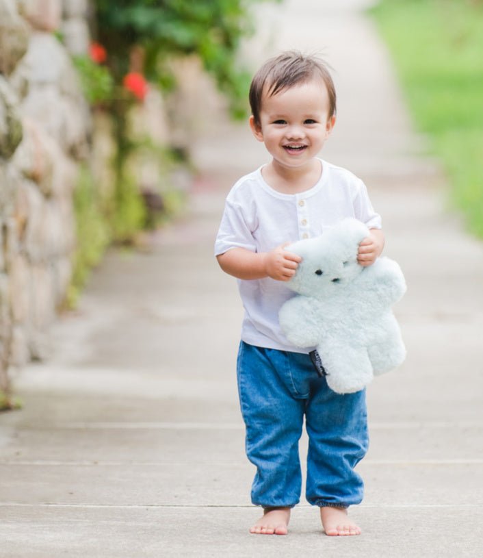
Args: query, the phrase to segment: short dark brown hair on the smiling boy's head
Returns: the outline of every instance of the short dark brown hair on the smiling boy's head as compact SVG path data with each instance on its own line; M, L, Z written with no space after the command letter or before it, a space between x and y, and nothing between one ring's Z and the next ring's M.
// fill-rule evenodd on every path
M320 77L324 81L329 98L329 116L334 116L335 86L325 62L313 55L286 51L267 60L252 79L249 99L255 122L260 123L261 99L265 86L268 87L267 95L272 97L284 89L302 84L313 77Z

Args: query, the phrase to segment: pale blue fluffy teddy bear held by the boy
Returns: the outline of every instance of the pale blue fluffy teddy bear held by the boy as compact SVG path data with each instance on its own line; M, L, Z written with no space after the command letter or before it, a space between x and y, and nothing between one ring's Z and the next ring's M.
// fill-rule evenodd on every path
M313 363L339 394L362 390L406 357L391 309L406 292L404 275L388 257L367 267L357 263L367 236L361 221L348 218L322 236L286 246L302 262L287 281L297 295L280 308L280 327L291 344L316 347Z

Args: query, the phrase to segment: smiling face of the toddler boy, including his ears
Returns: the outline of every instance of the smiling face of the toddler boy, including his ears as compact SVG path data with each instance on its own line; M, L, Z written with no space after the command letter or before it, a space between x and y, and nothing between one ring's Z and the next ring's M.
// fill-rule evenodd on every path
M250 117L250 127L274 162L286 168L306 165L324 147L335 116L329 116L327 88L312 79L272 97L263 94L260 123Z

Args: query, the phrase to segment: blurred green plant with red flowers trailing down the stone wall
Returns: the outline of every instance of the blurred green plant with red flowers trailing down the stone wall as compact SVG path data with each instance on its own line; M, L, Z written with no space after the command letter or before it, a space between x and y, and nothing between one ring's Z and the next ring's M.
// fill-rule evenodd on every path
M156 227L178 212L185 198L185 192L176 192L169 185L170 171L188 164L179 161L177 146L161 149L161 153L159 146L149 144L147 138L133 138L129 131L129 115L144 101L148 84L173 90L173 61L197 55L229 99L233 116L245 115L250 76L240 67L237 49L253 30L250 5L254 3L93 0L95 42L89 55L75 57L74 64L94 112L101 110L111 117L115 183L111 199L101 199L87 166L79 173L75 192L78 246L68 296L71 305L110 242L133 242L138 231ZM142 191L138 183L135 161L146 153L151 160L159 160L160 192L152 188Z

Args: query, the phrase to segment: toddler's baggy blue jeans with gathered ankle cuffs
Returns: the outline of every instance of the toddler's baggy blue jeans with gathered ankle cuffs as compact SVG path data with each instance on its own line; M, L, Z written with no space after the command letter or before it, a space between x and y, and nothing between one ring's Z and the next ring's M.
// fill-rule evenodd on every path
M252 503L293 507L300 501L298 441L304 416L307 501L335 507L361 503L363 481L354 467L369 445L365 390L336 394L317 375L309 355L243 341L237 378L246 454L257 467Z

